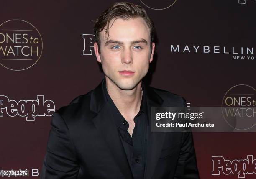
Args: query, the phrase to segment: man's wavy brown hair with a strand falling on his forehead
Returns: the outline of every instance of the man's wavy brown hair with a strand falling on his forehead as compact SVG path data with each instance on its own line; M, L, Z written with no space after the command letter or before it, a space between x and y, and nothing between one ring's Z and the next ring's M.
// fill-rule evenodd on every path
M154 23L151 18L148 17L145 9L141 8L139 5L135 5L133 3L122 2L122 3L115 3L113 6L105 10L100 14L100 16L95 20L94 23L94 34L95 34L95 41L97 42L99 48L98 51L100 53L100 38L99 33L103 31L106 26L105 35L107 38L109 37L109 24L111 20L116 20L118 18L122 18L124 20L129 20L131 18L141 17L145 20L149 30L150 30L150 48L152 50L152 42L154 42Z

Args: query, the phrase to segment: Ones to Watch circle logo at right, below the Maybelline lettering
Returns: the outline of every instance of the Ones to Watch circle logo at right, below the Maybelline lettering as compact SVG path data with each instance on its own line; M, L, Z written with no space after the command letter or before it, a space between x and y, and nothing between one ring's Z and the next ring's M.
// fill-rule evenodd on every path
M231 87L225 93L221 104L224 120L236 130L248 130L256 125L253 118L255 109L256 89L246 84Z

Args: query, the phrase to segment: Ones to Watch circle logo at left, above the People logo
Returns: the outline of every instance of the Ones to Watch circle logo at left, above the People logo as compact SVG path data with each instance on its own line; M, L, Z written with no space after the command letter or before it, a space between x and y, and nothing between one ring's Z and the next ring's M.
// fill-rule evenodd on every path
M43 39L33 24L20 19L0 25L0 64L22 71L35 65L43 52Z

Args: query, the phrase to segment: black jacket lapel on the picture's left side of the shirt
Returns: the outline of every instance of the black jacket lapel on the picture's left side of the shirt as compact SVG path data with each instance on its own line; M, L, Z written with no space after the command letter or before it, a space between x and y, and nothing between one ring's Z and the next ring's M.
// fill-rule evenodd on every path
M92 91L90 110L97 115L92 119L95 127L104 138L106 145L110 148L113 159L120 167L125 179L132 179L131 169L123 148L122 141L119 137L118 129L114 121L111 119L110 109L107 104L107 99L103 91L103 83Z

